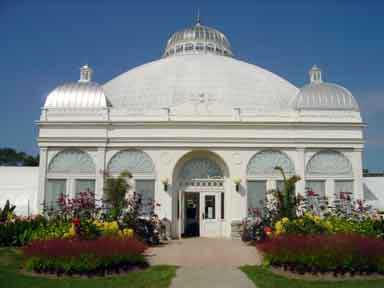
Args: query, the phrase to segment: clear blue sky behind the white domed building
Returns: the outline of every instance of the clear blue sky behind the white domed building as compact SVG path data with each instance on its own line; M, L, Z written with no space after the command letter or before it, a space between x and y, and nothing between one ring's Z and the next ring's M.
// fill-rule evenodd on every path
M0 146L36 153L47 94L89 63L104 83L159 58L170 34L204 24L240 59L304 85L316 63L368 123L364 167L384 170L384 1L0 0Z

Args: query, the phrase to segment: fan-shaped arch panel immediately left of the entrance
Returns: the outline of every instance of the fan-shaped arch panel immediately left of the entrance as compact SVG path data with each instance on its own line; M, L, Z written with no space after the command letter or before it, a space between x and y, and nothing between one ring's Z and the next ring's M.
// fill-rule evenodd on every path
M108 164L108 171L112 174L129 171L133 175L153 176L155 175L155 166L146 153L139 150L125 150L112 157Z

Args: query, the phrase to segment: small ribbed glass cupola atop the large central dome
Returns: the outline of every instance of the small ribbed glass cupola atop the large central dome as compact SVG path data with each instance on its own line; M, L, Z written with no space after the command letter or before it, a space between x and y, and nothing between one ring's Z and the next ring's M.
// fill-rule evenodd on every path
M193 27L178 31L169 38L163 57L197 53L233 56L227 37L214 28L201 25L198 20Z

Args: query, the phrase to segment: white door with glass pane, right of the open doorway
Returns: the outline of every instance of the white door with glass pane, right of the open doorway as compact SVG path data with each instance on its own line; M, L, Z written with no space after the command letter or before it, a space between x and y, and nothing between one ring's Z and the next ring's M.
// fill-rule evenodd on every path
M200 193L200 236L201 237L219 237L219 207L218 193L201 192Z

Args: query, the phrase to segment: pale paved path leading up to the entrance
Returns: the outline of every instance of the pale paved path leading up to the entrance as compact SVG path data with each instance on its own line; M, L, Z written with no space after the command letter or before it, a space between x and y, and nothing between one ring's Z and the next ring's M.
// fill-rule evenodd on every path
M255 288L237 268L261 263L255 247L240 240L208 238L173 240L151 248L148 258L153 265L180 267L171 288Z

